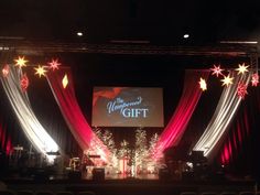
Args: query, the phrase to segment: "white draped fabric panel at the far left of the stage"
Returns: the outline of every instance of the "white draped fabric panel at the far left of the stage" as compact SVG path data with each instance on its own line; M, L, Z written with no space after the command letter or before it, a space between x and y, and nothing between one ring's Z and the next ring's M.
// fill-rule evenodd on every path
M0 77L3 89L26 138L37 152L53 161L54 155L48 155L48 152L57 152L59 148L37 120L30 105L26 91L21 89L21 76L22 69L10 65L9 75Z

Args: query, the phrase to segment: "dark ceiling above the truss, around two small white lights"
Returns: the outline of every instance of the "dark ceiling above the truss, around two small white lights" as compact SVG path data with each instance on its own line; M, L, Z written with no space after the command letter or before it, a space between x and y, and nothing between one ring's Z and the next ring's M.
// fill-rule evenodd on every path
M28 40L175 45L257 41L260 6L257 0L1 0L0 23L0 36Z

